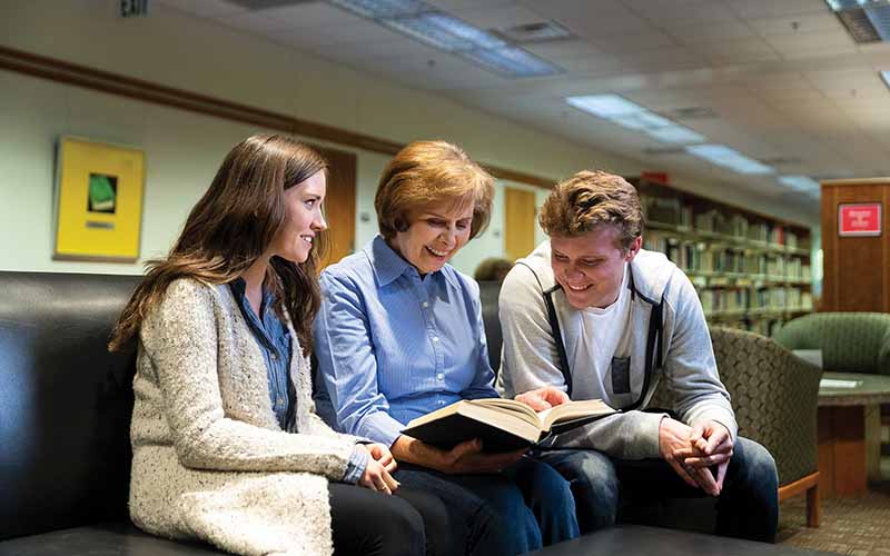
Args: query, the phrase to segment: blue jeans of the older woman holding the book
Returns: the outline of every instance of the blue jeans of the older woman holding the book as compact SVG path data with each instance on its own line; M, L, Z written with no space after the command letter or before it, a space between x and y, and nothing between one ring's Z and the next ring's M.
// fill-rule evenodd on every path
M578 536L575 502L551 466L523 457L492 475L446 475L399 464L404 486L441 498L467 539L466 554L514 555Z

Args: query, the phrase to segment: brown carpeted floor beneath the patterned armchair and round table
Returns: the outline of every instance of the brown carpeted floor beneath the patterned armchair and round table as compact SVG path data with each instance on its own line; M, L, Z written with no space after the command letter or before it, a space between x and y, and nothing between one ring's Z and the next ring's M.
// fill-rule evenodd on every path
M857 556L890 556L890 480L870 485L861 498L823 499L818 529L807 527L804 499L797 496L782 504L778 543Z

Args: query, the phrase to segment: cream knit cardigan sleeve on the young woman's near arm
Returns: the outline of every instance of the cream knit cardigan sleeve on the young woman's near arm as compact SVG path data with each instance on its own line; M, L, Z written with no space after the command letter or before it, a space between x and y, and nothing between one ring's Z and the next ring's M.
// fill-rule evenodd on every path
M307 471L340 480L353 443L288 434L226 417L218 376L218 305L210 287L170 285L140 330L180 463L196 469Z

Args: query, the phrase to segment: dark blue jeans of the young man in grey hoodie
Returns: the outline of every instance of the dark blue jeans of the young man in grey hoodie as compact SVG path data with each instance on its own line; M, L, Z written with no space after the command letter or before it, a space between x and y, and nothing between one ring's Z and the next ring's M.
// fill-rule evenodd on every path
M535 457L568 479L582 533L615 524L619 496L708 496L680 478L663 459L614 459L593 449L538 450ZM739 438L716 503L716 534L773 543L779 520L779 476L767 449Z

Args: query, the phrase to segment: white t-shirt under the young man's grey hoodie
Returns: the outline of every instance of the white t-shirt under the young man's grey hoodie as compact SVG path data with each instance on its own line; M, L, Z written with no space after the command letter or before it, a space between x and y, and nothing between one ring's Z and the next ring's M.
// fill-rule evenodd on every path
M574 375L591 374L589 384L600 391L595 395L603 399L612 398L611 367L612 358L626 355L621 340L627 329L631 317L631 291L627 288L627 266L621 280L619 298L605 308L589 307L581 314L581 334L575 338L574 349L566 346L566 353L574 354L568 366ZM587 381L585 380L585 381Z

